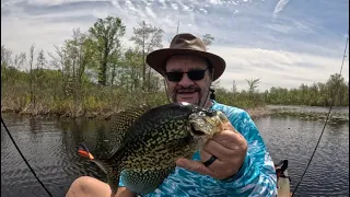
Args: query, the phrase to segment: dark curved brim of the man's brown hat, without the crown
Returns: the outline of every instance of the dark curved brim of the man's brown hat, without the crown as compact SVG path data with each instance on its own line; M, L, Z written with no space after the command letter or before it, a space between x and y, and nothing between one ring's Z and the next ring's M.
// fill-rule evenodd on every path
M160 74L164 76L166 60L174 55L195 55L208 59L213 68L213 81L221 77L226 67L225 61L220 56L217 56L214 54L194 49L175 48L154 50L147 56L145 62L154 70L156 70Z

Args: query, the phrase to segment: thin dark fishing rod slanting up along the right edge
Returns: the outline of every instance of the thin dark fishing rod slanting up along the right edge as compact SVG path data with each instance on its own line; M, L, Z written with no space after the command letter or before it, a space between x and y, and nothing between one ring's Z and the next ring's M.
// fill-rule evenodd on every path
M349 42L349 30L348 30L348 38L347 38L347 42L346 42L346 48L345 48L345 50L343 50L342 62L341 62L339 76L341 76L343 61L345 61L345 59L346 59L346 57L347 57L347 56L346 56L346 53L347 53L348 42ZM340 81L336 84L337 88L339 86L339 84L340 84ZM317 150L317 147L318 147L318 144L319 144L319 141L320 141L320 139L322 139L322 136L324 135L324 131L325 131L325 128L326 128L326 125L327 125L327 121L328 121L328 118L329 118L329 115L330 115L330 111L331 111L332 105L334 105L334 103L335 103L335 99L336 99L336 96L338 95L337 93L339 93L339 91L340 91L340 89L337 89L336 94L335 94L334 97L331 99L331 103L330 103L329 111L328 111L328 113L327 113L326 121L325 121L324 127L323 127L323 129L322 129L322 131L320 131L320 135L319 135L318 141L317 141L317 143L316 143L316 147L315 147L315 149L314 149L314 152L313 152L313 154L311 155L311 159L308 160L308 163L307 163L307 165L306 165L306 169L305 169L305 171L304 171L304 173L303 173L300 182L296 184L296 186L295 186L295 188L294 188L294 190L293 190L293 193L292 193L292 196L294 196L298 187L299 187L300 184L302 183L302 181L303 181L303 178L304 178L304 176L305 176L305 174L306 174L306 171L307 171L307 169L308 169L308 166L310 166L310 164L311 164L311 161L313 160L313 158L314 158L314 155L315 155L315 152L316 152L316 150Z

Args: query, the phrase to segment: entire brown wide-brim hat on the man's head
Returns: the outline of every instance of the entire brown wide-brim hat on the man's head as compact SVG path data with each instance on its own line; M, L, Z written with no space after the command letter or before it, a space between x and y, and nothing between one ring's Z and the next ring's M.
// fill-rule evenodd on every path
M195 55L206 58L213 69L213 81L221 77L226 67L225 61L220 56L207 51L206 45L199 37L187 33L177 34L170 48L150 53L145 62L163 76L167 59L175 55Z

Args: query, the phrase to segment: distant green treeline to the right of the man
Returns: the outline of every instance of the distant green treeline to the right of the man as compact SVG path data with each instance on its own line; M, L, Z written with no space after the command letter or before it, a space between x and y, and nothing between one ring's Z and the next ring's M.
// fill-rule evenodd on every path
M330 74L323 83L312 85L302 83L295 89L276 88L265 92L257 91L260 79L247 81L247 90L236 91L235 82L231 91L219 88L217 90L221 101L234 100L241 105L307 105L307 106L349 106L349 81L346 82L339 73Z

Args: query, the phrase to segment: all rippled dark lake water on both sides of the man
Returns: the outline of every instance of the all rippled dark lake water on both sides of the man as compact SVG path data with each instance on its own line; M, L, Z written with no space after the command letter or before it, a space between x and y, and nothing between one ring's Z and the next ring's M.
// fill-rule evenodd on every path
M109 128L101 120L3 119L32 167L56 197L65 196L81 175L103 178L102 173L77 154L85 141L96 155L108 149ZM301 178L316 146L323 121L295 117L256 119L272 159L288 159L292 189ZM97 139L97 140L95 140ZM349 196L349 123L328 125L311 166L295 196ZM47 196L30 172L1 126L1 195Z

